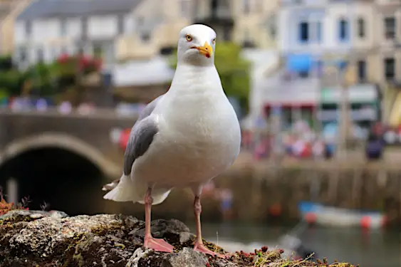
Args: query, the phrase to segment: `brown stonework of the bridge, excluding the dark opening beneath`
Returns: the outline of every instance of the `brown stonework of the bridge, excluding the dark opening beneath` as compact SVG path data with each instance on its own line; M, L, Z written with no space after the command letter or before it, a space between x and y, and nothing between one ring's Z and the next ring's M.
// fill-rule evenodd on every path
M96 109L86 115L1 110L0 167L29 150L58 148L88 159L106 177L117 177L124 151L111 140L110 133L115 128L132 127L135 120L118 116L112 109Z

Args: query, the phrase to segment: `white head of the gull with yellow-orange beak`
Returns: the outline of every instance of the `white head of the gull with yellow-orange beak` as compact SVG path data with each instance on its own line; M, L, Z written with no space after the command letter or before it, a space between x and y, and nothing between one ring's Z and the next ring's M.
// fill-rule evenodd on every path
M179 33L177 61L194 66L214 65L216 32L202 24L193 24Z

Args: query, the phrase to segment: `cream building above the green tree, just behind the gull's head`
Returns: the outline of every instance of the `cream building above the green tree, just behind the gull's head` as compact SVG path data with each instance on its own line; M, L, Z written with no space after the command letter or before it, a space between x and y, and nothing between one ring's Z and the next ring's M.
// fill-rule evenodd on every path
M223 41L246 48L276 46L278 0L192 0L193 22L212 26Z

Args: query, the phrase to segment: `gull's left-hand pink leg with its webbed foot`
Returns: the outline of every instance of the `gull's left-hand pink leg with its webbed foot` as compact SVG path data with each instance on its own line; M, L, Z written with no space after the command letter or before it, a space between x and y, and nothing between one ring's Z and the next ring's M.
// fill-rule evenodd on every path
M145 241L146 248L154 251L173 252L174 246L168 244L164 239L155 239L150 233L150 213L152 209L152 188L147 189L145 194Z

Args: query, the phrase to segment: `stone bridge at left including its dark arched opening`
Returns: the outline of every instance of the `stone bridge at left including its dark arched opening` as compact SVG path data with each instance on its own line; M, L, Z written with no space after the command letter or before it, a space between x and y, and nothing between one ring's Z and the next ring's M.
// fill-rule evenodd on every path
M31 209L46 201L71 214L104 211L101 186L120 176L124 155L110 133L132 127L136 118L111 109L86 115L0 110L0 187L6 199L29 196Z

